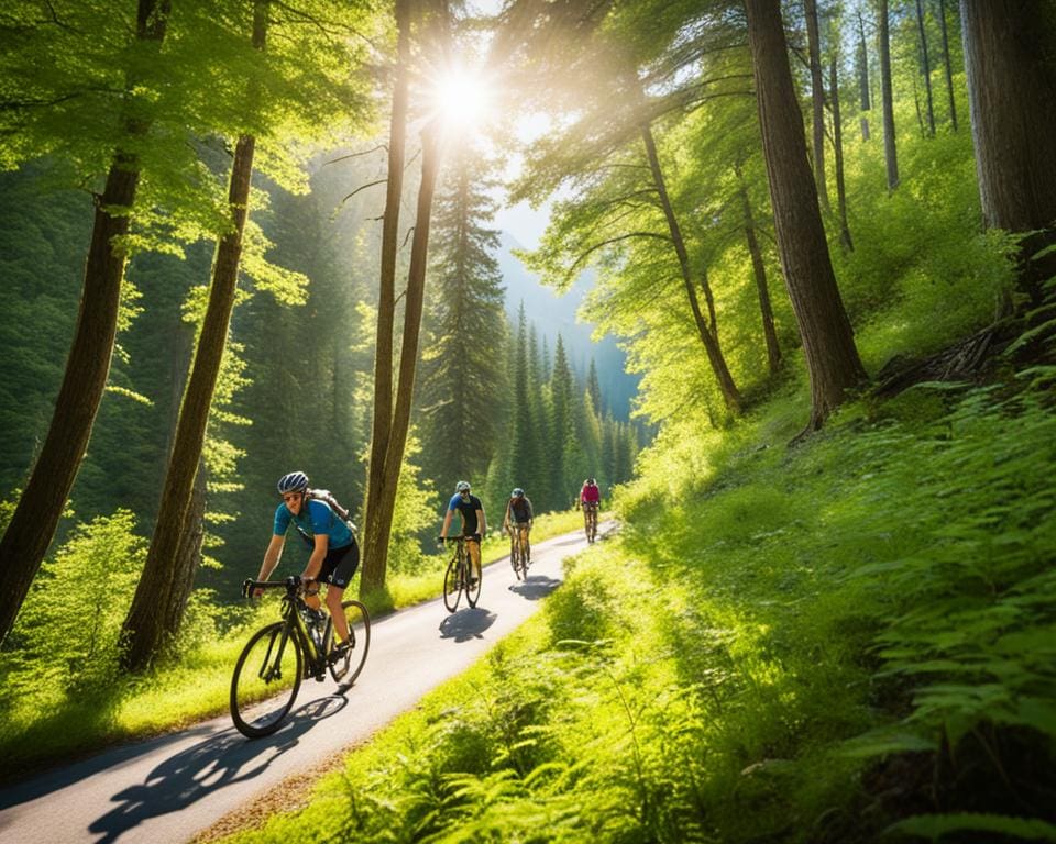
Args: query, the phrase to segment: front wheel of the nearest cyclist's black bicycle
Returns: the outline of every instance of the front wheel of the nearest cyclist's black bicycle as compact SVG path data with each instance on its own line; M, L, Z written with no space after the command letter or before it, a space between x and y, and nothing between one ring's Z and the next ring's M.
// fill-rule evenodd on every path
M258 738L278 730L297 699L300 669L300 648L286 622L253 634L231 678L231 720L242 735Z

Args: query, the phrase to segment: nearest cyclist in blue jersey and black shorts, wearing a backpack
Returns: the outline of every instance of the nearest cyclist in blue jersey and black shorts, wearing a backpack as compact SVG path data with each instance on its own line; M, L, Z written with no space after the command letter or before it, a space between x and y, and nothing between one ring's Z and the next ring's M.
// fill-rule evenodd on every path
M337 651L348 648L349 622L344 615L341 599L360 565L360 548L349 525L326 502L311 498L308 489L308 476L302 471L292 471L278 480L278 493L283 502L275 510L272 541L264 552L261 574L257 580L266 580L283 555L286 532L293 525L301 538L311 548L311 556L300 579L308 584L305 602L319 610L319 584L327 584L327 609L333 619L333 630L338 636ZM254 597L263 593L257 589ZM324 618L324 617L323 617Z

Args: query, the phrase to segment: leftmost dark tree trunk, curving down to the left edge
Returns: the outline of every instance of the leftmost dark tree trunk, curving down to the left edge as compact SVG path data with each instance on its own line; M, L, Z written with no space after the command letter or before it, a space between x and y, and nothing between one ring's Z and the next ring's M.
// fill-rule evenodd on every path
M140 0L136 38L152 42L160 49L168 13L168 0ZM131 91L135 84L130 76L128 90ZM150 131L147 123L131 118L125 120L124 126L130 141L138 141ZM52 423L25 490L0 540L0 642L11 632L55 535L102 400L110 374L124 278L125 252L121 238L129 232L139 181L138 157L117 148L102 196L96 199L77 327Z

